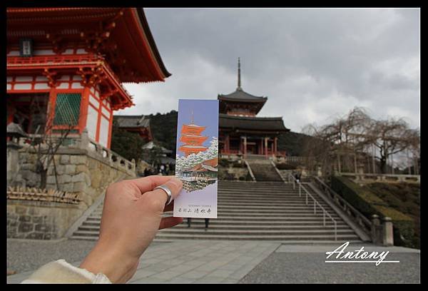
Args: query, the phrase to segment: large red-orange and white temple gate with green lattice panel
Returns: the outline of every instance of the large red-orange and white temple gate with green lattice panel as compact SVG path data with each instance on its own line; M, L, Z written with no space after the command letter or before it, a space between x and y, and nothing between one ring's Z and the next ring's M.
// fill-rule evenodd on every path
M8 8L6 22L7 123L29 134L86 128L110 148L113 111L133 106L122 83L170 76L141 8Z

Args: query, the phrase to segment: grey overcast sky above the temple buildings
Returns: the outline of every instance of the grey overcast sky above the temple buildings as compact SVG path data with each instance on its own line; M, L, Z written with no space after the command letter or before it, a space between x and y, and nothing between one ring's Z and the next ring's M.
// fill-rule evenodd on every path
M419 9L145 9L172 76L126 84L136 106L167 113L179 98L216 99L237 87L267 96L258 116L300 132L354 106L375 118L420 120Z

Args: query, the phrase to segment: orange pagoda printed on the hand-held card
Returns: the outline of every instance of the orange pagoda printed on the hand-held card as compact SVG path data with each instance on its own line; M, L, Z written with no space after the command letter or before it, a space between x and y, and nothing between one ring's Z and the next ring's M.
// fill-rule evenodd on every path
M197 126L193 122L193 111L190 124L183 124L181 127L180 141L184 143L178 150L185 154L185 157L191 153L199 153L203 150L207 150L206 146L203 146L203 142L207 140L208 136L201 136L200 134L205 131L206 126Z

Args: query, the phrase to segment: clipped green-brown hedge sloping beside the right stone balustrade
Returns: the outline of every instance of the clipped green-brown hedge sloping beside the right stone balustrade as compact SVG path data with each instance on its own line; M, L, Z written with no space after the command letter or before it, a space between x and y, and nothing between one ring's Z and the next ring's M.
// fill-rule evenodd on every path
M412 218L391 208L372 191L362 188L348 178L332 177L331 187L367 218L371 218L373 214L379 215L380 218L391 218L394 225L394 245L413 246L414 222Z

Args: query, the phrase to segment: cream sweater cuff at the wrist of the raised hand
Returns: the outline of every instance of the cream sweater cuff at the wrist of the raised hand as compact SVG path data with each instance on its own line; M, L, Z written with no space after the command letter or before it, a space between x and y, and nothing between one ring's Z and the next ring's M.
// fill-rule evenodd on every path
M36 270L22 284L37 283L92 283L92 284L111 284L108 277L102 273L97 275L88 270L74 267L65 260L56 260L49 262Z

